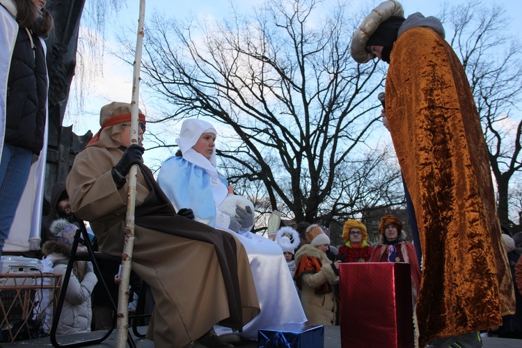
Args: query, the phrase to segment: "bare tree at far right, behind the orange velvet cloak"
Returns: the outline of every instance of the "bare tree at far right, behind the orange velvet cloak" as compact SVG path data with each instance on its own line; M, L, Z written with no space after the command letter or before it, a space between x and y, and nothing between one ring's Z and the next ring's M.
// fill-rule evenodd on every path
M461 58L482 120L500 222L509 227L509 183L522 168L522 62L520 41L506 34L506 17L502 7L481 1L443 12L446 29L452 30L448 41Z

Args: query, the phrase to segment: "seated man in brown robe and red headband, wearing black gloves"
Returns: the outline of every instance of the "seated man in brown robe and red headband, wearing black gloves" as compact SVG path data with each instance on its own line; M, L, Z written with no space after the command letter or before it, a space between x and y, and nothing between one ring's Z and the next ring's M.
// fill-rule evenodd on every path
M102 129L67 178L72 212L90 221L101 251L121 256L126 176L139 164L132 269L150 285L156 303L147 337L156 347L230 347L213 334L214 324L239 330L260 313L244 247L230 233L176 214L143 165L143 148L130 145L130 110L119 102L102 107ZM139 120L141 143L141 113Z

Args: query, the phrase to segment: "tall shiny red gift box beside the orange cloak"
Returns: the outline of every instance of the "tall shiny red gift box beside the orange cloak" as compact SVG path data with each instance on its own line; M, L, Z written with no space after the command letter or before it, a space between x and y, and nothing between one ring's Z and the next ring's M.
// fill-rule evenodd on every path
M408 348L413 344L410 264L342 263L342 348Z

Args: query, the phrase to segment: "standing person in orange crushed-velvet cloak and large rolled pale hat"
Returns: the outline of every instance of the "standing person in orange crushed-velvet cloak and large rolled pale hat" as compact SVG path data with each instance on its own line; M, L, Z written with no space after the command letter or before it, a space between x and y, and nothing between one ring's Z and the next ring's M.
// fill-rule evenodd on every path
M487 145L441 22L420 13L404 19L400 3L385 1L354 33L351 56L389 63L386 117L422 248L420 347L502 324L514 296Z

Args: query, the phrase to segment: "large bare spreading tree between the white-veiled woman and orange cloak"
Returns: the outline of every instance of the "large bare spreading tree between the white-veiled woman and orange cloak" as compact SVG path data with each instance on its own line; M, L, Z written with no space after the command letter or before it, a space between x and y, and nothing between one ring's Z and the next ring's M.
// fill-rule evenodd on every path
M319 16L319 5L273 0L228 22L157 15L145 36L143 82L171 106L155 122L207 117L229 125L236 141L218 153L236 189L254 188L264 209L296 221L362 212L365 194L370 205L402 202L388 190L397 171L368 184L365 174L381 158L361 150L377 127L374 95L385 74L374 74L377 62L351 59L358 19L344 5ZM354 187L370 191L351 194Z

